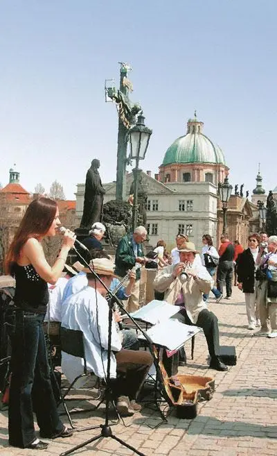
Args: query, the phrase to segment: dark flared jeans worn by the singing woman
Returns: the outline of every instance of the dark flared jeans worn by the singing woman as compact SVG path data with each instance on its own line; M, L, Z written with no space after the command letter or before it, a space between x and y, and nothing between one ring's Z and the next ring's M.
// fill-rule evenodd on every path
M51 436L63 428L57 413L42 322L44 314L18 310L12 339L9 442L26 448L35 441L33 412L41 432Z

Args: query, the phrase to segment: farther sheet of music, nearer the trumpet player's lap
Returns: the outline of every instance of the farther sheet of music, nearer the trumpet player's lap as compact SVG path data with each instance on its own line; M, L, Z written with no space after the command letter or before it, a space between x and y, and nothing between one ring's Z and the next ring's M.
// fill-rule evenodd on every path
M154 299L147 305L143 305L139 310L136 310L136 312L132 312L130 315L135 320L142 320L146 323L155 325L164 320L168 321L170 316L177 314L179 310L179 305L172 305L168 304L166 301Z

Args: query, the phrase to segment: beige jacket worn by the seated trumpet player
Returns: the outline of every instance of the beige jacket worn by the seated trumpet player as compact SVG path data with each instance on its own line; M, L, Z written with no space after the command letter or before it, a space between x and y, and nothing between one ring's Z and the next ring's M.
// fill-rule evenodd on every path
M213 279L204 266L197 264L193 269L197 273L197 278L189 277L183 284L179 276L174 278L172 272L175 265L162 269L153 282L153 287L157 292L165 292L164 299L170 304L175 304L182 290L186 312L193 323L197 322L199 312L207 308L203 301L203 293L208 294L213 287Z

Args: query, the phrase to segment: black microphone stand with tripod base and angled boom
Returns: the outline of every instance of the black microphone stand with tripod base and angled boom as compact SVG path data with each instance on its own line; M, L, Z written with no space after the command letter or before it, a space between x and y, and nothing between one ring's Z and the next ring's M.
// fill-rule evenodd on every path
M89 444L91 444L93 441L96 441L98 439L101 439L102 437L111 437L111 439L114 439L116 441L118 441L121 445L125 446L126 448L129 448L129 450L132 450L134 451L134 453L136 453L137 455L140 455L140 456L145 456L144 453L141 453L141 451L139 450L136 450L136 448L134 448L133 446L127 444L125 441L123 441L122 439L119 439L118 437L116 437L116 435L114 435L111 431L111 426L109 425L109 403L111 402L111 385L110 385L110 368L111 368L111 321L112 321L112 318L113 318L113 310L112 310L112 301L116 301L116 303L118 304L118 307L120 307L120 309L124 309L123 305L120 303L119 299L117 298L117 296L115 296L112 292L109 291L109 289L107 288L107 286L105 285L104 282L102 282L102 280L100 279L100 277L98 276L98 274L93 271L93 268L91 268L91 266L87 263L86 260L84 260L84 258L82 257L82 255L80 254L80 252L73 246L73 250L75 251L75 253L77 253L78 257L80 257L80 259L82 260L82 262L89 268L89 270L91 271L91 273L93 274L94 278L96 278L100 284L102 285L102 287L104 287L107 291L107 294L109 295L109 297L111 298L109 300L109 328L108 328L108 350L107 350L107 376L106 376L106 387L105 387L105 397L106 397L106 407L105 407L105 424L100 424L100 429L101 429L101 432L100 434L96 435L96 437L92 437L91 439L89 440L86 440L84 441L82 444L79 444L77 446L74 446L73 448L71 448L70 450L68 451L65 451L64 453L60 453L60 456L66 456L66 455L70 455L71 453L73 453L73 451L75 450L79 450L80 448L83 448L84 446L87 446ZM132 316L129 315L128 312L126 312L126 310L124 309L125 313L129 316L129 318L132 320L132 322L134 323L134 325L136 326L136 328L138 328L143 336L145 337L145 339L149 342L150 344L150 353L152 353L152 340L150 339L150 337L148 336L148 334L139 326L138 323L136 323L136 321L134 321L134 319L132 318ZM101 343L101 341L100 341ZM154 360L154 364L157 362L157 359L156 357L153 357L153 360ZM156 360L156 361L155 361ZM159 365L156 365L156 369L158 368L159 369ZM158 371L157 371L158 372ZM159 408L159 407L158 407ZM161 412L161 410L160 410ZM165 417L163 417L164 421L167 421Z

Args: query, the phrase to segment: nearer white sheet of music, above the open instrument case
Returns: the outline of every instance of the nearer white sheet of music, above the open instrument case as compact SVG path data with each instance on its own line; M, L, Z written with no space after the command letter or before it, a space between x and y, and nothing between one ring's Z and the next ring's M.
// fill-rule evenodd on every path
M170 319L157 323L146 332L153 344L161 345L172 351L181 348L184 342L199 331L201 328L197 326L185 325L178 320ZM139 335L139 339L141 339L141 335Z

